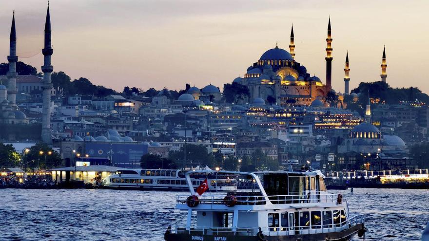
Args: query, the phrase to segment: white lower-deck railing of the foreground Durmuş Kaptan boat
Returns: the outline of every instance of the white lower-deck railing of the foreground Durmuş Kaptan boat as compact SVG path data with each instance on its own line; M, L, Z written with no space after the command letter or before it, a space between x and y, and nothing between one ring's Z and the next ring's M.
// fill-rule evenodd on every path
M286 226L286 227L209 227L209 226L195 226L183 227L172 226L172 233L187 233L193 235L227 235L234 234L238 236L255 236L258 232L262 232L268 236L279 235L304 235L304 234L319 234L339 232L349 229L355 225L365 222L365 215L356 215L349 220L339 223L331 224L312 224L305 226Z

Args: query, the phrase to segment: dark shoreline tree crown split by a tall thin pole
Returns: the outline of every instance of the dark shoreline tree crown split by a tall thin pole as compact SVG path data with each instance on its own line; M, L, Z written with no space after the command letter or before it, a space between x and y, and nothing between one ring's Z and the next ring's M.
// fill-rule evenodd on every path
M183 167L184 163L184 148L180 148L179 151L170 151L169 157L177 164L179 167ZM186 144L186 166L187 167L215 167L215 157L212 153L207 151L207 148L204 145L193 145Z

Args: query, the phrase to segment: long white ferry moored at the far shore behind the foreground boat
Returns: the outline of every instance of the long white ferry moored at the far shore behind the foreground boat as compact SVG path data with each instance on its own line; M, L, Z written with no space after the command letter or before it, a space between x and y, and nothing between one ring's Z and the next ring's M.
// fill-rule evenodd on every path
M122 189L170 189L188 190L185 173L191 170L178 169L122 169L117 174L110 175L103 180L103 186ZM213 191L234 191L237 189L234 175L217 173L211 170L195 172L190 177L190 183L197 187L206 178L208 187Z

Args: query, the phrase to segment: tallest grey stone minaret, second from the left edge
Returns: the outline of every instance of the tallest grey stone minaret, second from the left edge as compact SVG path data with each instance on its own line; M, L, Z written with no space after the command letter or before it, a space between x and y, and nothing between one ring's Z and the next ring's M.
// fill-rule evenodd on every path
M45 46L42 49L44 56L44 64L42 66L43 72L43 116L42 116L42 141L45 143L52 143L51 138L51 73L54 67L51 65L51 56L54 50L51 45L51 17L49 15L49 2L48 11L46 13L45 23Z

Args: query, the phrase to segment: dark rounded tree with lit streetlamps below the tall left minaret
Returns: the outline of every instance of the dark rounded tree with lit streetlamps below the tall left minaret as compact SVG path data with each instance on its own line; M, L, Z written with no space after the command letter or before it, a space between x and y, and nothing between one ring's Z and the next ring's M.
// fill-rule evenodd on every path
M62 164L59 153L44 143L38 143L24 152L23 164L29 168L49 169Z

